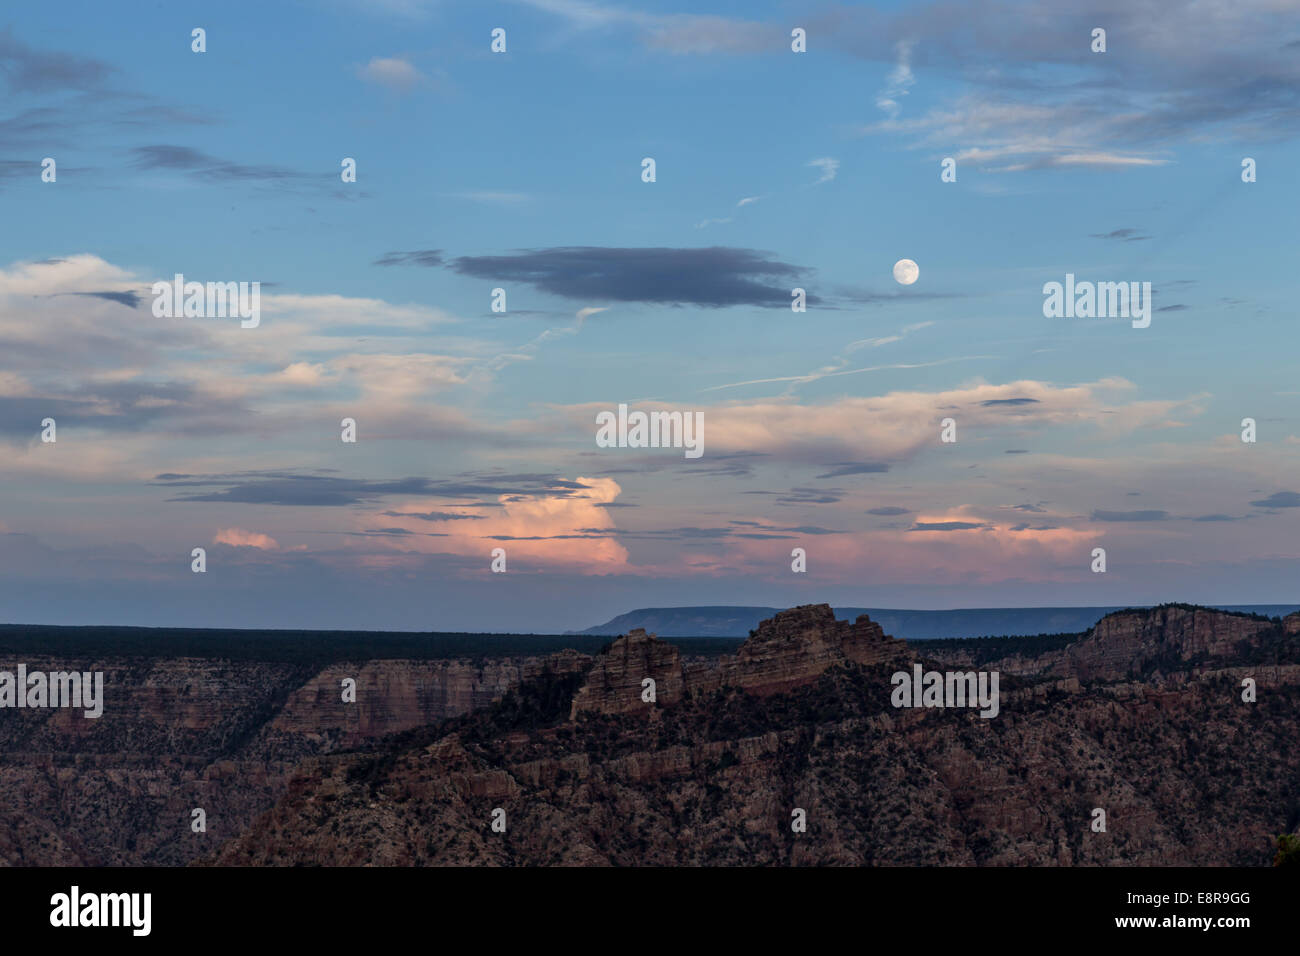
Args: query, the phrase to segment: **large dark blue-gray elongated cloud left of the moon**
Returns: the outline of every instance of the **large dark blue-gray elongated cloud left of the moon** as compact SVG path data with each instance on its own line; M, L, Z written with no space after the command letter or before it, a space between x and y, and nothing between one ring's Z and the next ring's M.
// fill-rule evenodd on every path
M400 254L390 254L400 255ZM451 268L476 278L521 282L592 302L788 308L790 289L810 271L751 248L620 248L562 246L500 256L460 256ZM816 303L814 295L809 303Z

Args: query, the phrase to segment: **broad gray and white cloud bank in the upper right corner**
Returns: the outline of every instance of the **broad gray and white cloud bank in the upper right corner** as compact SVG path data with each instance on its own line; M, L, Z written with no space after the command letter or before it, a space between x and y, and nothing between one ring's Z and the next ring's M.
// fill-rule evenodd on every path
M1166 27L1150 30L1157 10ZM911 44L909 70L924 57L956 87L904 121L890 85L878 104L889 117L866 133L909 137L985 172L1121 169L1165 165L1171 148L1210 130L1245 142L1294 137L1300 65L1277 39L1294 33L1294 13L1277 0L1086 0L1070 10L1052 0L979 0L959 10L936 1L889 12L831 7L810 29L852 56L893 61L896 72L898 44ZM982 29L991 22L1004 26ZM1098 25L1112 43L1122 38L1122 52L1092 52Z

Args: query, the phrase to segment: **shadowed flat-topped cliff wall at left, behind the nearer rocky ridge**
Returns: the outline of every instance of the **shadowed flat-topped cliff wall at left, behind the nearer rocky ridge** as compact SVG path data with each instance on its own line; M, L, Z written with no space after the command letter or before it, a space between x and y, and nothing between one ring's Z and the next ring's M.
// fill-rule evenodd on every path
M276 800L304 757L469 713L550 658L311 667L196 658L23 657L29 671L104 672L103 717L0 711L0 865L177 865L211 853ZM13 669L17 662L0 663ZM356 679L356 702L341 682ZM203 808L207 832L190 829Z

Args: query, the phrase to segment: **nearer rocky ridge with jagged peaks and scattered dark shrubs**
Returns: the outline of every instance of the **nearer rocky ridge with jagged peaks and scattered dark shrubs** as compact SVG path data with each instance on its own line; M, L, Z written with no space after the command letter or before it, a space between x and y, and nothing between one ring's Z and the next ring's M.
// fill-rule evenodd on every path
M629 635L568 700L525 682L510 709L382 758L313 761L214 861L1268 865L1300 819L1300 649L1277 624L1171 610L1098 626L1036 676L1013 653L1024 676L1006 676L994 719L894 709L907 648L818 607L714 667ZM1110 678L1132 669L1124 643L1160 666ZM679 666L680 698L640 701L647 671Z

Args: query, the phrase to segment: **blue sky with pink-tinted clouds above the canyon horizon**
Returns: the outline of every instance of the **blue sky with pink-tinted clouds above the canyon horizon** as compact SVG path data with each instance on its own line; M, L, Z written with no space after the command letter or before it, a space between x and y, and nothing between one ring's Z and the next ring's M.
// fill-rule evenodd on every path
M0 622L1300 600L1294 0L23 4L0 86Z

